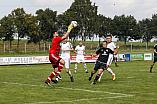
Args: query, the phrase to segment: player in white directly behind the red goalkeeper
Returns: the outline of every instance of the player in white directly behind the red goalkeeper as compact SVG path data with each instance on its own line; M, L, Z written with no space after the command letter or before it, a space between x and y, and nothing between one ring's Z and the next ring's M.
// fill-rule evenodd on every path
M61 44L61 58L65 61L65 69L66 72L69 74L71 82L74 82L73 76L71 71L69 70L70 67L70 51L73 51L73 46L70 42L67 42L68 39L64 39L63 43Z

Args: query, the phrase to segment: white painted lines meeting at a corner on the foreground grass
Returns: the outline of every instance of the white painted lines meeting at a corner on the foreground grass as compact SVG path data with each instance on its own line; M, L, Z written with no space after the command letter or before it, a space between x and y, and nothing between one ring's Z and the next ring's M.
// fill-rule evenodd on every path
M33 86L33 87L48 87L43 85L31 85L31 84L21 84L21 83L11 83L11 82L1 82L5 84L14 84L14 85L24 85L24 86ZM54 101L54 102L36 102L36 103L25 103L25 104L43 104L43 103L64 103L64 102L78 102L78 101L87 101L87 100L99 100L99 99L108 99L108 98L120 98L120 97L133 97L134 95L127 95L122 93L112 93L112 92L103 92L103 91L93 91L93 90L85 90L85 89L73 89L73 88L66 88L66 87L55 87L59 89L66 89L66 90L75 90L75 91L85 91L91 93L105 93L111 95L119 95L114 97L103 97L103 98L91 98L91 99L78 99L78 100L71 100L71 101Z

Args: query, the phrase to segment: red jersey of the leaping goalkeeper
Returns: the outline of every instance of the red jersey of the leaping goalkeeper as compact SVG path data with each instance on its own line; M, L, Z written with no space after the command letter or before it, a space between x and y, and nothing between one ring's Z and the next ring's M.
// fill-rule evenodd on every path
M59 56L60 52L60 42L62 41L62 37L56 37L52 40L52 46L49 50L49 53Z

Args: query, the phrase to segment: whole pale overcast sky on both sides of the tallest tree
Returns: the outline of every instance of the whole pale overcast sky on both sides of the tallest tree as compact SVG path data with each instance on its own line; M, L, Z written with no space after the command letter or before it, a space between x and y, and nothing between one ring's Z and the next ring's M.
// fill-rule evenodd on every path
M61 14L70 8L74 0L0 0L0 2L1 19L17 8L24 8L26 13L33 15L37 10L46 8ZM132 15L139 21L157 14L157 0L91 0L91 2L98 6L98 14L110 18L124 14Z

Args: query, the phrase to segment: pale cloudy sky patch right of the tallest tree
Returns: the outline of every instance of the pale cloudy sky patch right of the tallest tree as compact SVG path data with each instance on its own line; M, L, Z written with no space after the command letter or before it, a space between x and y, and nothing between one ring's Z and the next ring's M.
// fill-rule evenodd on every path
M133 15L137 20L151 18L157 11L156 0L92 0L98 13L113 18L115 15Z

